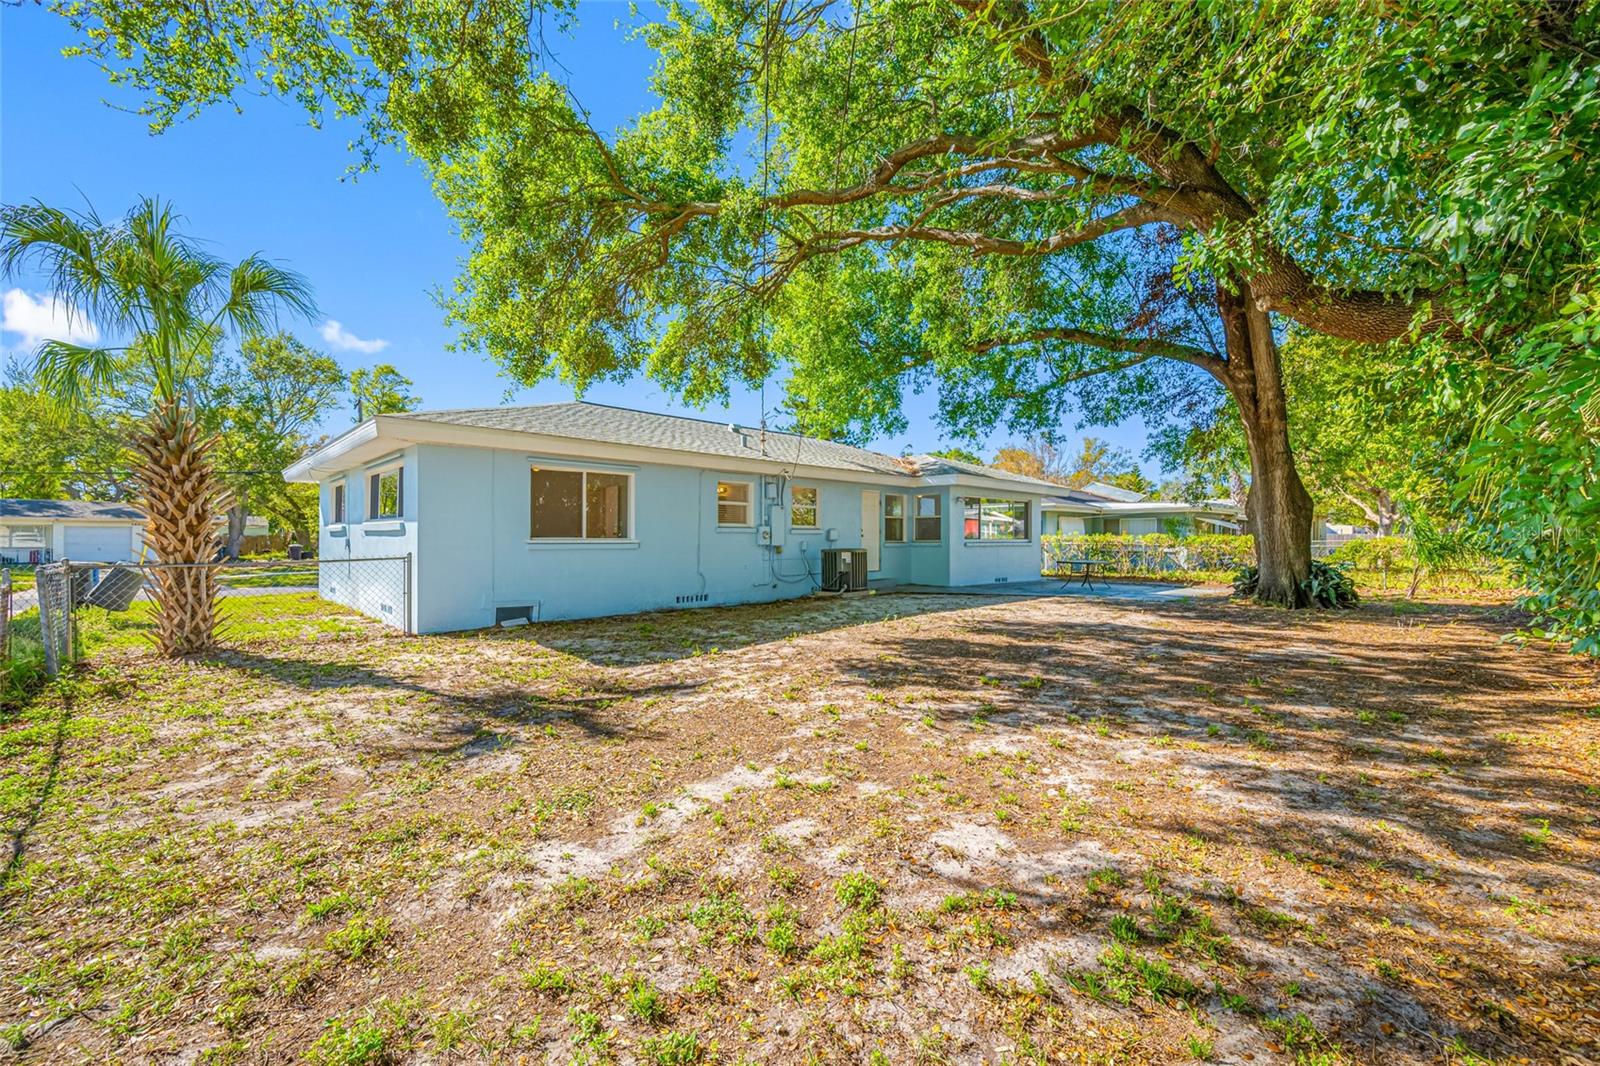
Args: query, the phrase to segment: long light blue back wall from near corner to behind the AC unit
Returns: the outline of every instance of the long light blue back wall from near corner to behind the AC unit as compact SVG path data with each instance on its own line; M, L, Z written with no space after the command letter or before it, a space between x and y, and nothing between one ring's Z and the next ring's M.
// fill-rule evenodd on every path
M498 608L528 607L534 619L560 619L806 595L821 581L824 547L861 546L861 490L870 488L499 448L424 445L416 451L421 632L490 626ZM632 475L630 536L531 539L530 467L536 464ZM750 525L718 527L718 480L752 485ZM819 490L818 528L790 527L789 487L795 483ZM763 520L771 525L771 547L757 543Z

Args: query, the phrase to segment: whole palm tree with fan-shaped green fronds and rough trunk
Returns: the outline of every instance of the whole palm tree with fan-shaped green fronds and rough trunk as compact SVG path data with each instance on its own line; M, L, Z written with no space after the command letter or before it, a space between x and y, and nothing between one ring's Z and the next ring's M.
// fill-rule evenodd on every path
M0 269L34 267L54 295L122 346L46 339L35 381L64 410L82 410L112 387L149 389L133 447L157 571L157 637L163 655L211 643L216 627L218 517L226 490L211 466L216 439L198 418L198 386L218 339L253 335L278 311L314 312L306 282L251 254L226 264L176 232L178 216L155 198L125 218L69 213L34 202L0 208Z

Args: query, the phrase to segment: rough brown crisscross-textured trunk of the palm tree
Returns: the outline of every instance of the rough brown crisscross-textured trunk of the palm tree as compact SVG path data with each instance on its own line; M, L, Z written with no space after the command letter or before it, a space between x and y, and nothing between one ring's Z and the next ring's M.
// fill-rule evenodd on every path
M155 575L155 647L176 658L211 647L216 632L216 520L227 490L211 467L214 437L205 437L194 411L162 403L133 442L134 477L146 512L146 541L163 563Z

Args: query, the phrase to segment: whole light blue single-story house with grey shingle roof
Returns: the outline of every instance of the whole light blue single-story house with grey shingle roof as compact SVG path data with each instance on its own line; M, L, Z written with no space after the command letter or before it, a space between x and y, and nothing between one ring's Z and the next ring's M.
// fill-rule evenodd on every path
M827 547L880 586L1034 579L1059 491L597 403L379 415L285 475L322 488L322 559L413 559L414 632L808 595ZM355 605L358 568L325 570Z

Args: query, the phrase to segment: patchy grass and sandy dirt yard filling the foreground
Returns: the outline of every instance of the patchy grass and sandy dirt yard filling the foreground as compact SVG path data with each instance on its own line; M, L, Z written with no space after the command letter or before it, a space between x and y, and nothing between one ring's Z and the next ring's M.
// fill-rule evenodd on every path
M1589 1061L1600 687L1499 610L112 647L0 731L0 1048Z

